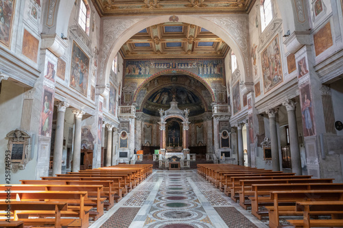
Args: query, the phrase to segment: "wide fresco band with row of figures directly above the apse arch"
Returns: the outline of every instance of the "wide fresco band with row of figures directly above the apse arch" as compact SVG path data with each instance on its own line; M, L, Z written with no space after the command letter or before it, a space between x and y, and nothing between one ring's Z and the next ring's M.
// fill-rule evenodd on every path
M223 78L224 60L163 59L129 60L125 63L126 78L147 78L161 71L185 70L204 78Z

